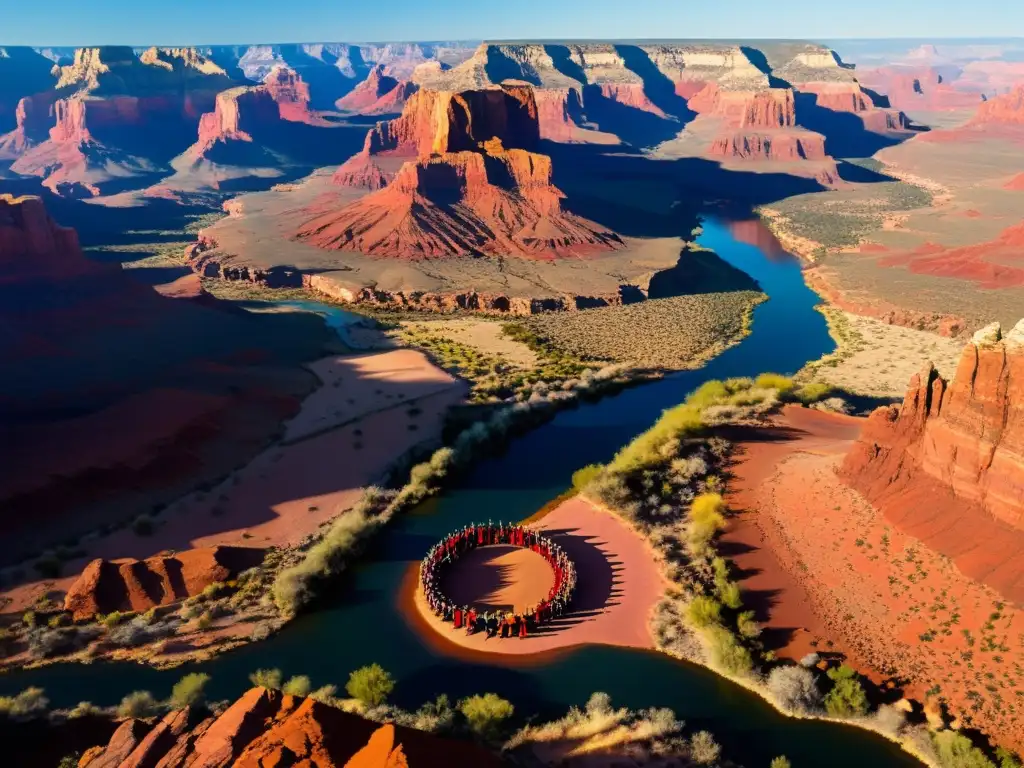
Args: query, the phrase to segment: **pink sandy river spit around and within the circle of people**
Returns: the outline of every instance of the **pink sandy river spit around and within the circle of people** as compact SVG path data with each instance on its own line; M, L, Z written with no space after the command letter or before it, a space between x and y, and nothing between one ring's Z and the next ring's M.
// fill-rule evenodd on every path
M401 598L410 621L423 630L425 637L432 635L440 650L453 655L482 652L520 656L586 643L653 647L648 621L667 583L643 539L611 513L579 497L561 503L534 524L575 563L579 585L570 613L525 639L488 640L484 633L466 635L427 608L418 588L417 563L410 569ZM478 550L479 557L467 563L467 571L478 585L465 588L467 597L478 595L481 602L494 604L512 599L514 603L546 592L546 585L550 586L551 568L540 557L536 558L540 562L521 557L506 560L506 552L489 558L485 551Z

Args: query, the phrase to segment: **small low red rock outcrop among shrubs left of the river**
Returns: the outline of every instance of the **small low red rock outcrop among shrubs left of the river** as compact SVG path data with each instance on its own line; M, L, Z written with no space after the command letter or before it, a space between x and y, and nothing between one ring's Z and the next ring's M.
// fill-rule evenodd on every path
M147 560L93 560L68 590L65 610L76 621L115 610L146 611L198 595L262 559L262 550L207 547Z

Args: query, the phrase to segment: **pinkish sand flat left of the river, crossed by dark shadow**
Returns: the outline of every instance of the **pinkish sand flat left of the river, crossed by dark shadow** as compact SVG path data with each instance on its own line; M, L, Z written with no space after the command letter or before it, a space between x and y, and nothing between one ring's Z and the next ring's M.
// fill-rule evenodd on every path
M167 550L234 545L291 546L351 506L394 460L439 439L462 382L420 352L396 349L332 356L311 365L324 385L286 425L286 437L215 487L178 500L150 536L131 528L83 542L65 575L4 593L3 611L23 611L42 594L67 590L97 557L145 558Z

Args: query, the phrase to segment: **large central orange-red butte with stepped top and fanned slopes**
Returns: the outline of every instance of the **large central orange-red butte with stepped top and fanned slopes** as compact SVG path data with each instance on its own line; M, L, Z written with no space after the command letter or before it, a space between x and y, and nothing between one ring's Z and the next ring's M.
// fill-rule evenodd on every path
M623 247L614 232L562 210L551 159L531 152L539 140L531 88L421 90L339 169L339 183L376 191L340 210L330 202L327 210L310 208L296 238L411 259L481 253L552 259ZM388 178L375 161L380 157L415 159Z

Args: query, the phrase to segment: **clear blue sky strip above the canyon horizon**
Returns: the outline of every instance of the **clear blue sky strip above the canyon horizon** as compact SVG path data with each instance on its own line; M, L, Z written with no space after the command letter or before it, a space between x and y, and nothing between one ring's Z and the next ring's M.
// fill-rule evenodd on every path
M1024 3L1012 0L4 0L3 5L0 45L1024 35Z

